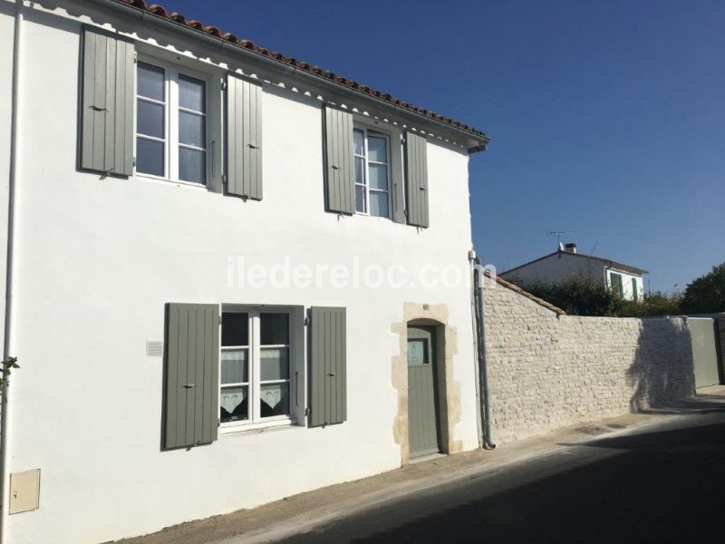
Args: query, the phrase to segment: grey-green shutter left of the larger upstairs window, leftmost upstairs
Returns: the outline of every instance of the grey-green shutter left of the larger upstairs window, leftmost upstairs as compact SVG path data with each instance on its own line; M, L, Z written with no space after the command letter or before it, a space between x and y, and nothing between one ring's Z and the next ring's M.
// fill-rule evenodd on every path
M80 166L133 173L134 46L83 27Z

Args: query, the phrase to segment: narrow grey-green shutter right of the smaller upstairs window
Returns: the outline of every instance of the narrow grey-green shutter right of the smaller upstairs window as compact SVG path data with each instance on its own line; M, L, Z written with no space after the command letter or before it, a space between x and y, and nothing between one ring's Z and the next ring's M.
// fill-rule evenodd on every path
M426 140L405 134L405 199L408 224L428 227L428 154Z

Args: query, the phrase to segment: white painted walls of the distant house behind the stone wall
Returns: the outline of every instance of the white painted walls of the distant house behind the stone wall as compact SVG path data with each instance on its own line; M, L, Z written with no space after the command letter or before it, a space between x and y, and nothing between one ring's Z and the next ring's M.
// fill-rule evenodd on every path
M501 277L511 279L519 277L524 280L541 280L556 283L565 277L574 274L587 274L595 278L602 278L607 287L612 287L610 272L622 275L624 298L633 299L632 279L637 282L637 297L641 300L644 296L643 278L635 276L615 267L607 267L600 260L587 259L585 256L573 256L565 251L560 251L541 260L527 264L523 267L512 270Z

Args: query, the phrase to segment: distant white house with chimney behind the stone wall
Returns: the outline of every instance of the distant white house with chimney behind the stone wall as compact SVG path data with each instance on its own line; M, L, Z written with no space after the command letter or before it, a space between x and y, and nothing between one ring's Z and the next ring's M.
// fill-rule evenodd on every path
M647 270L623 265L608 258L583 255L576 252L576 244L565 244L554 253L539 257L500 274L505 279L548 281L556 283L574 274L586 274L604 282L619 296L627 300L642 300L643 276Z

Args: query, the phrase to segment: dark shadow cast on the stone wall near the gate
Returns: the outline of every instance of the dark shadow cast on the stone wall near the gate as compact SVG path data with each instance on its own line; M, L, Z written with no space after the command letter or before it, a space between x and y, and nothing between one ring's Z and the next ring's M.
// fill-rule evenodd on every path
M681 411L695 395L690 329L682 317L642 320L634 362L627 370L634 388L632 412ZM702 408L702 404L698 404Z

